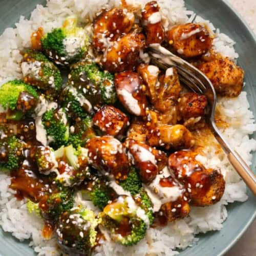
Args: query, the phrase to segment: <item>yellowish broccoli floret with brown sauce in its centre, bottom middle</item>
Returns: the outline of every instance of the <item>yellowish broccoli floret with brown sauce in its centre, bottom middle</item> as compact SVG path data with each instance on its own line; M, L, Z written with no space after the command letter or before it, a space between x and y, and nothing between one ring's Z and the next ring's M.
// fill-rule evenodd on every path
M145 211L133 198L125 196L108 204L103 209L101 220L102 227L109 230L112 239L124 246L135 245L143 239L150 224Z

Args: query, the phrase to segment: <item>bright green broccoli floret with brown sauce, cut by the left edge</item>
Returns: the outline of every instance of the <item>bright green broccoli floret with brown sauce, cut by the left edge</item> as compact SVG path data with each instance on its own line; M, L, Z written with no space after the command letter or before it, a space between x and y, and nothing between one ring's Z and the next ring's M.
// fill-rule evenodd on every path
M31 113L37 100L36 90L23 81L12 80L0 87L0 105L11 112L7 113L8 119L19 120L25 113Z

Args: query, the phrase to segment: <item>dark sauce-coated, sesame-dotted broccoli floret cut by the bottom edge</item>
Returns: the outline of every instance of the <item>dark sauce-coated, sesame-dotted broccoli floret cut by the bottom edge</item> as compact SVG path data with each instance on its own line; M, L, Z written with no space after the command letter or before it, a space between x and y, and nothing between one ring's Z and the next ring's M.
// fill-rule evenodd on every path
M96 245L98 220L94 212L78 206L64 212L56 229L62 250L72 255L91 255Z

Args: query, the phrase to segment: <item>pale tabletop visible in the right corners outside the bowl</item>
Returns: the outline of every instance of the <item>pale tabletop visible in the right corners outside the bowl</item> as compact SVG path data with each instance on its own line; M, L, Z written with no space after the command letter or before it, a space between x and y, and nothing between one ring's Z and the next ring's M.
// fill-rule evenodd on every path
M256 34L256 0L228 0L234 8L245 18ZM236 225L236 223L234 223ZM256 220L251 224L242 238L225 256L253 256L256 255Z

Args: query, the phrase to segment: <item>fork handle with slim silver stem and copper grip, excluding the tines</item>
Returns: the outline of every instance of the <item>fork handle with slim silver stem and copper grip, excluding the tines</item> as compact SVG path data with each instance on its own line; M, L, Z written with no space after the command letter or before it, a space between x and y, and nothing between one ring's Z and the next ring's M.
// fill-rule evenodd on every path
M214 133L215 138L220 143L222 149L227 154L229 162L232 164L234 169L237 170L238 174L244 180L246 185L250 188L254 196L256 196L256 177L252 172L251 168L246 164L243 158L234 150L232 150L229 143L221 135L214 121L211 121L211 130Z

